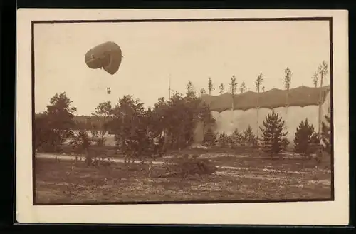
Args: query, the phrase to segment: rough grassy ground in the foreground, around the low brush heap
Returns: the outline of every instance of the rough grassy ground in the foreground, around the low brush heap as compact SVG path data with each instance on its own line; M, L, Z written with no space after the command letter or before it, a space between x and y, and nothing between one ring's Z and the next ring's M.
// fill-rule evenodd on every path
M36 203L145 202L184 200L330 199L330 158L315 161L258 154L200 152L218 166L212 175L160 178L164 166L113 163L86 166L36 158ZM173 159L166 158L166 161Z

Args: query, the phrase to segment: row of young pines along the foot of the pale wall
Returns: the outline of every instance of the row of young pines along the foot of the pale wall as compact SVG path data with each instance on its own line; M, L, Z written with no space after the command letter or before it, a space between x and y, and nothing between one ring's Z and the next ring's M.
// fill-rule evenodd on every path
M214 133L211 129L206 131L204 135L204 145L208 148L236 148L248 146L248 148L261 148L268 156L278 155L281 151L285 151L289 145L286 138L288 131L284 131L286 121L283 121L275 111L268 113L263 120L263 126L259 127L261 131L261 141L258 141L257 135L253 133L252 128L248 125L244 131L234 129L233 133ZM313 124L309 123L308 118L300 121L293 139L294 152L300 153L304 158L310 158L314 153L325 151L331 154L331 132L330 132L330 116L325 115L325 121L322 123L322 133L315 131Z

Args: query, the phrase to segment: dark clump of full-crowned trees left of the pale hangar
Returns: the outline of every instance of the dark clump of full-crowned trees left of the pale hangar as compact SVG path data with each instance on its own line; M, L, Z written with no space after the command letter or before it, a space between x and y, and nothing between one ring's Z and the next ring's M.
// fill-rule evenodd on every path
M56 93L47 110L36 115L36 150L61 151L63 143L74 138L73 129L78 126L73 119L76 108L72 104L65 92ZM198 122L206 129L215 122L209 106L197 96L190 81L186 93L175 92L169 100L159 98L147 109L140 99L125 95L115 105L110 101L99 103L92 116L100 121L85 130L97 132L99 146L109 131L115 135L117 146L136 153L145 151L152 137L160 138L164 149L184 148L192 143Z

